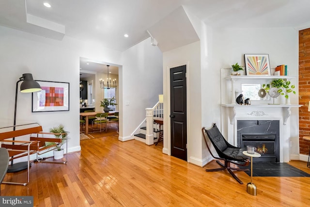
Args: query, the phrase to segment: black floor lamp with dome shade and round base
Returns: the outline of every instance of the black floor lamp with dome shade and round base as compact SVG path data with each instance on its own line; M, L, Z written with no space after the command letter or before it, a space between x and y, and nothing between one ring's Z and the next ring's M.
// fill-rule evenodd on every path
M33 80L31 73L25 73L22 77L19 78L16 82L16 92L15 92L15 111L14 111L14 125L13 130L16 129L16 109L17 109L17 94L18 94L18 83L23 81L20 84L20 92L21 93L33 93L37 91L41 91L41 86L38 82ZM13 141L15 140L15 137L13 137ZM14 144L14 143L13 143ZM13 157L12 157L13 158ZM11 161L11 165L8 168L8 173L17 172L20 170L24 170L28 168L28 162L17 162L16 164L13 164L13 159Z

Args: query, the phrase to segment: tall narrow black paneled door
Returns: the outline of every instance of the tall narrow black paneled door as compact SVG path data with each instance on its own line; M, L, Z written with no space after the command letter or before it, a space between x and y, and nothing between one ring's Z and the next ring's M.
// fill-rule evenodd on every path
M170 69L171 155L187 161L186 65Z

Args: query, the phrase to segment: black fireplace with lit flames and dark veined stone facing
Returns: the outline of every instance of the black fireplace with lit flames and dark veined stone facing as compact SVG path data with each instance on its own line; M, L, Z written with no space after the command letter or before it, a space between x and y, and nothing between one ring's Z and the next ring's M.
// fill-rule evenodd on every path
M257 148L253 162L279 162L279 120L238 120L237 145Z

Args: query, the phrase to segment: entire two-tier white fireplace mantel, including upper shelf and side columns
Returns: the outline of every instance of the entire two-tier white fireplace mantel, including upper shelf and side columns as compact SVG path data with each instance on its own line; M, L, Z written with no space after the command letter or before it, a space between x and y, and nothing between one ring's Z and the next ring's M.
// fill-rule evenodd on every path
M268 84L272 80L283 79L295 82L297 76L231 76L231 68L221 68L221 132L227 141L237 146L237 124L239 120L279 120L279 161L290 160L290 149L293 141L298 139L292 133L291 118L295 120L295 114L302 105L293 94L289 98L279 96L273 99L250 100L250 105L238 105L236 92L242 92L242 84ZM296 83L295 83L296 84ZM297 92L298 93L298 92ZM241 93L242 94L242 93ZM288 94L287 94L288 95ZM298 94L297 94L298 96ZM293 104L291 104L291 98ZM246 97L245 97L246 98ZM292 116L291 116L292 114Z

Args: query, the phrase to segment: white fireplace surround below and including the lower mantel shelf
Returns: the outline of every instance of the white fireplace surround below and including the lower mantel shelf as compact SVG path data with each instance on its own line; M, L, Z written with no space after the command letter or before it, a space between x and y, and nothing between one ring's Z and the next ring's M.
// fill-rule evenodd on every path
M279 121L279 162L290 161L290 115L291 107L299 105L244 106L225 104L223 115L227 117L228 142L238 145L238 120L278 120ZM263 133L262 131L261 133ZM256 131L256 133L260 133Z

